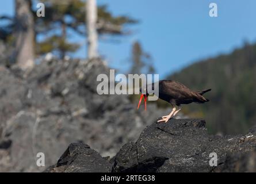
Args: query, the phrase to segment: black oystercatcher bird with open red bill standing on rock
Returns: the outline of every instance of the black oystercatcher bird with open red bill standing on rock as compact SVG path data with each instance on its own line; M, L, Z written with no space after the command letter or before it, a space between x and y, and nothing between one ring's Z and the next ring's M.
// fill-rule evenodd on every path
M152 86L148 86L148 87L151 87L151 89L154 90L155 83L151 85ZM147 97L148 95L150 95L148 94L148 91L146 89L147 87L143 88L143 90L146 91L146 94L144 93L140 95L140 101L137 106L137 109L139 109L140 102L144 97L145 110L146 110ZM203 104L204 102L208 102L209 100L202 96L202 94L207 93L208 91L211 91L211 89L202 90L202 91L192 91L188 87L186 87L185 85L182 85L182 83L179 83L179 82L175 82L171 80L159 81L158 98L163 99L166 102L169 102L173 107L173 110L169 115L162 116L162 120L158 120L158 122L169 121L170 118L174 117L179 112L179 110L181 110L181 104L190 104L192 102ZM140 93L142 93L141 88L140 88ZM178 106L178 109L176 109L175 106Z

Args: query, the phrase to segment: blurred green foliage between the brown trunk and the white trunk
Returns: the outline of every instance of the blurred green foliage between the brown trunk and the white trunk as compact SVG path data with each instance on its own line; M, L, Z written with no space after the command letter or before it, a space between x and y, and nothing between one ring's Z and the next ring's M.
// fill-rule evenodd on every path
M84 3L80 0L63 1L62 3L52 0L43 0L42 2L45 4L45 17L37 17L36 10L34 11L36 33L37 36L42 34L44 36L49 34L49 36L43 41L37 41L36 53L44 55L54 52L63 59L68 52L75 52L79 48L79 44L68 41L67 33L69 29L81 33L79 26L84 24Z

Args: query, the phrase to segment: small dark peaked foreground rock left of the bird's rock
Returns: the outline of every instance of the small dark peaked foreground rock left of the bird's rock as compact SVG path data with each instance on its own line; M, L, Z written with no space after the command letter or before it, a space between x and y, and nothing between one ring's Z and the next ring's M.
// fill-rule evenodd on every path
M72 143L68 146L56 167L48 168L50 172L67 173L109 173L112 165L91 150L89 145L83 143Z

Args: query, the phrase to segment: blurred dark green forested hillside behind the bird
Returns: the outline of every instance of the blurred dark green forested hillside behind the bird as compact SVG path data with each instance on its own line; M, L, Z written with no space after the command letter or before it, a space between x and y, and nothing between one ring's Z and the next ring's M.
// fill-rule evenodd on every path
M193 90L211 88L210 102L184 105L182 112L202 117L212 133L242 133L256 124L256 44L202 60L168 77Z

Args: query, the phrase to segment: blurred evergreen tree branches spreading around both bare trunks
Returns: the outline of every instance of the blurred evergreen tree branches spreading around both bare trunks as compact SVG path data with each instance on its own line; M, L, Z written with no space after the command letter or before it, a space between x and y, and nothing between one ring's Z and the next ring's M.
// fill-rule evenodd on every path
M31 55L36 53L36 56L40 56L48 52L53 52L56 53L60 58L63 58L68 53L77 51L81 45L78 43L71 43L68 38L73 36L74 33L82 37L86 37L85 1L41 0L40 2L43 2L45 5L45 17L37 17L36 15L36 3L38 3L38 1L29 0L25 2L30 2L33 5L30 6L29 3L28 7L29 11L33 14L34 22L29 21L31 24L27 25L29 30L34 28L35 32L34 36L32 33L30 33L34 41L34 45L30 48L36 48L36 51L29 52ZM102 35L111 37L129 34L131 33L131 30L127 29L127 26L125 25L135 24L137 22L136 20L127 16L113 16L113 14L109 12L106 5L98 6L97 12L98 18L96 28L100 39ZM10 37L13 37L14 40L17 39L17 37L14 37L13 35L13 25L16 25L16 17L6 17L0 15L0 21L6 19L10 20L10 24L7 24L0 29L0 39L5 43L7 43L8 40L12 40ZM40 40L38 39L39 37L41 38Z

